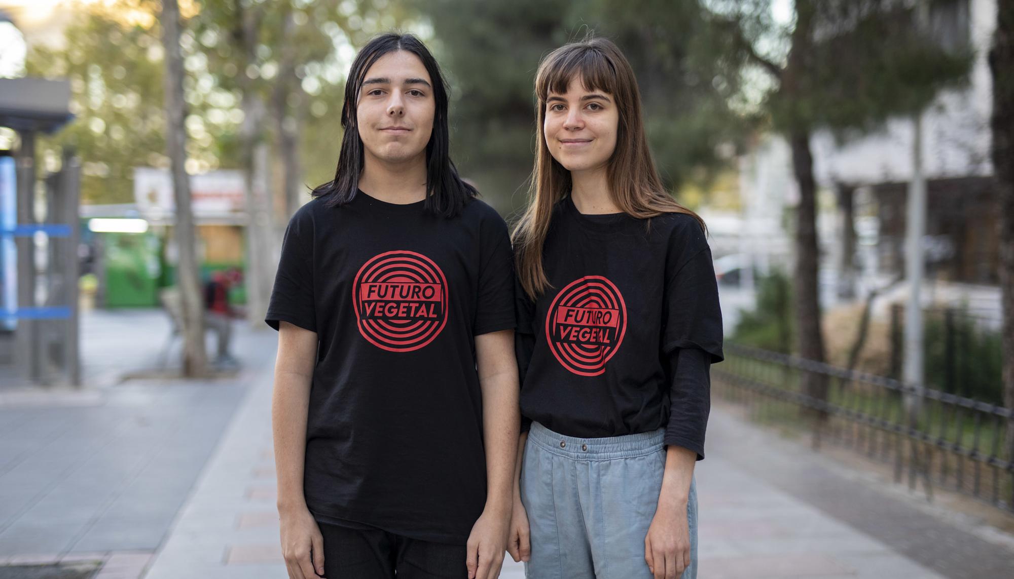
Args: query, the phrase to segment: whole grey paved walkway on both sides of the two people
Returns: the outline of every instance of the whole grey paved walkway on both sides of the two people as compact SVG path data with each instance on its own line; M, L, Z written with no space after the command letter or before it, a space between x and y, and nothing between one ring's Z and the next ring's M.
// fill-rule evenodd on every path
M91 376L149 365L167 331L160 319L94 318ZM0 397L0 577L17 577L5 565L58 561L100 565L95 579L286 576L270 416L277 337L236 334L244 371L232 380ZM993 579L1014 569L1010 536L718 401L697 477L701 579ZM508 559L501 577L522 576Z

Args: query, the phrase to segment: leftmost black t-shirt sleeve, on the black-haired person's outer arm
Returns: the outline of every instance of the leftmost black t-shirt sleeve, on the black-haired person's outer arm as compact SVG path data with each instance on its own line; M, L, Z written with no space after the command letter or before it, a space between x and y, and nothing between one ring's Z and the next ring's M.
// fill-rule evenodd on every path
M282 256L265 322L278 329L279 322L316 331L313 305L313 222L306 206L289 221L282 240Z

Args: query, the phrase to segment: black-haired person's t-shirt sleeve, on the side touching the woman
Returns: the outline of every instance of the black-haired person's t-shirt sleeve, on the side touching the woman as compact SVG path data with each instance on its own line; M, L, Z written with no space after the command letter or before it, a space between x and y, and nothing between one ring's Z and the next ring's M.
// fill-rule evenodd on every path
M480 233L479 301L473 335L514 329L514 255L507 224L494 214Z

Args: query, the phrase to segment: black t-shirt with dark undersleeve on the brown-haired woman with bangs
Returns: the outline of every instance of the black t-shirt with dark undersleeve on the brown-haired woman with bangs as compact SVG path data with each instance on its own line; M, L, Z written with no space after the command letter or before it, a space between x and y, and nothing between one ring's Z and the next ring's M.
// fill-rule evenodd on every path
M666 428L704 458L709 365L722 316L711 250L693 217L582 215L568 196L542 248L553 285L518 285L522 428L597 438Z

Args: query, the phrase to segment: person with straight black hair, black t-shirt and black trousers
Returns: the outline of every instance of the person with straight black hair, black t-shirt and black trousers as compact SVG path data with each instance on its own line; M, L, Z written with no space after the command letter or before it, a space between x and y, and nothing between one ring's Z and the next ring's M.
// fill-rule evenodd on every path
M496 577L519 421L507 227L450 161L415 36L360 51L342 126L267 314L289 577Z

